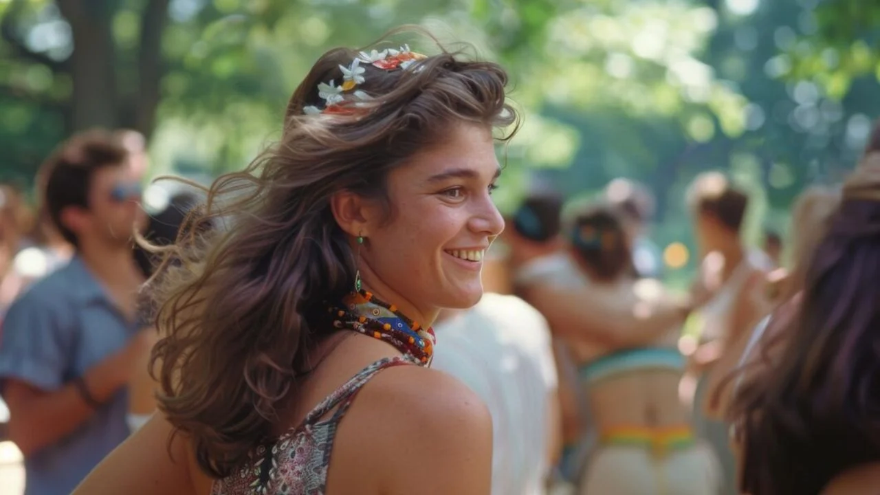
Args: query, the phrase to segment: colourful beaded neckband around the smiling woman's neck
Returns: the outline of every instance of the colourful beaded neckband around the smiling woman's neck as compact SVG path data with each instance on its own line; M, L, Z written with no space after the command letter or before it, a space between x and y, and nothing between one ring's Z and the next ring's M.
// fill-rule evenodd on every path
M401 314L397 307L376 298L371 292L359 291L342 299L341 307L330 307L334 327L350 329L392 344L422 366L429 366L434 355L436 336Z

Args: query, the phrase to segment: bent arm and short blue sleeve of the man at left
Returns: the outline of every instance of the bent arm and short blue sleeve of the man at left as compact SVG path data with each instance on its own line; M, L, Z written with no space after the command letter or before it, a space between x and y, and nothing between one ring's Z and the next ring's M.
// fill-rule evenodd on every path
M84 375L66 376L76 343L75 319L64 301L27 292L4 319L0 380L10 410L9 437L26 457L74 432L128 381L134 338Z

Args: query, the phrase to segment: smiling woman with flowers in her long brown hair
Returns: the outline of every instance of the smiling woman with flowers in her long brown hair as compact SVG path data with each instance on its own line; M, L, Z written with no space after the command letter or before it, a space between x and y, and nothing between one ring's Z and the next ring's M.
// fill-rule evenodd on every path
M488 412L428 366L502 232L506 83L442 48L323 55L158 270L161 413L77 493L487 494Z

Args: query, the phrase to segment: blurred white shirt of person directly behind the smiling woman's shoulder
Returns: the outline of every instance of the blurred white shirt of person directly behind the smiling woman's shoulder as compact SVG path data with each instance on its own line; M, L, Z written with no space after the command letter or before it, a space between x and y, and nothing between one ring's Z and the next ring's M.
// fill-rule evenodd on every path
M441 314L434 330L442 344L431 367L472 388L492 415L492 493L546 493L561 442L544 317L515 296L486 293L475 307Z

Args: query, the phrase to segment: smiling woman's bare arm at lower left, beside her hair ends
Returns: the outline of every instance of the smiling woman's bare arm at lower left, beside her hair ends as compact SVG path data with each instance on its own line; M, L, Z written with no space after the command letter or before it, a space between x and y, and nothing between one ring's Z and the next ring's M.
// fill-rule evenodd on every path
M210 480L194 469L187 438L175 435L169 448L171 432L165 417L154 415L106 456L73 495L207 494Z

